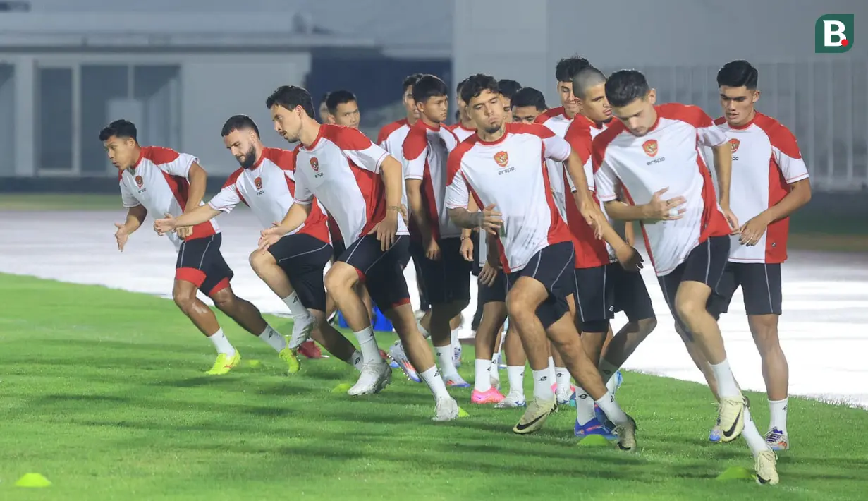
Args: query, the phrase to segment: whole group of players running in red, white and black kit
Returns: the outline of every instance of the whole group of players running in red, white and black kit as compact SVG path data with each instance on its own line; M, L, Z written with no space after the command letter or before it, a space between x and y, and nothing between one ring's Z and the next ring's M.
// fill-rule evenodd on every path
M605 76L569 57L555 73L562 106L554 109L518 82L466 78L457 85L454 126L446 125L446 83L408 76L407 115L385 126L377 143L358 130L352 93L325 96L318 122L305 89L280 87L266 107L279 135L298 146L268 148L249 117L229 118L221 135L240 168L207 203L207 175L194 156L142 147L135 125L112 122L100 140L119 169L128 208L116 225L118 247L148 212L155 215L155 231L178 249L174 300L217 349L209 373L228 372L240 354L197 291L273 346L291 373L299 371L299 353L316 356L308 339L316 340L360 372L351 395L382 391L391 359L431 389L437 421L463 413L448 388L470 384L458 375L450 332L477 274L481 318L474 321L470 401L526 405L513 428L519 434L536 432L559 404L575 402L576 437L602 436L635 451L635 420L615 390L618 369L657 323L633 247L629 221L639 221L675 328L720 402L709 439L743 434L757 480L777 484L774 451L789 447L788 372L777 333L780 264L787 217L811 197L795 138L755 109L758 74L745 61L720 69L724 115L716 121L695 106L656 105L654 89L635 70ZM214 218L241 202L262 226L251 267L293 315L288 339L230 286ZM411 258L431 307L421 320L404 280ZM765 437L717 323L738 287L769 395ZM398 333L388 355L374 338L371 304ZM329 323L336 309L358 349ZM613 334L619 311L628 323ZM506 395L496 376L501 346Z

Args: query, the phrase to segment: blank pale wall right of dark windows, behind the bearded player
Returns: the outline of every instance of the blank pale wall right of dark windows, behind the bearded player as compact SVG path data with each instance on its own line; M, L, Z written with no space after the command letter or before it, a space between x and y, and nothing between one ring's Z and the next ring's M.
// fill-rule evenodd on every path
M266 97L281 85L301 85L310 56L214 56L181 64L181 142L209 173L229 174L238 163L220 129L232 115L249 115L268 146L286 148L274 132Z

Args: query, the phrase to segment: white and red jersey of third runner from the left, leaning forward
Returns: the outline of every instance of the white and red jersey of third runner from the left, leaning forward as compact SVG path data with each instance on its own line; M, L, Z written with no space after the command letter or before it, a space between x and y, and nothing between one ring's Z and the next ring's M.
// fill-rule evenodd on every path
M358 129L322 124L310 148L295 148L294 199L310 204L316 197L350 247L385 218L385 185L379 172L388 156ZM398 234L408 234L402 217Z

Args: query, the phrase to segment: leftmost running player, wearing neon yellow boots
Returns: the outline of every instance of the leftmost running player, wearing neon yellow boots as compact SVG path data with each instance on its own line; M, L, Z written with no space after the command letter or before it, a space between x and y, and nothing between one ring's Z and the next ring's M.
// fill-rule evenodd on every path
M109 161L118 169L123 207L127 220L115 223L117 248L123 251L129 235L141 227L148 212L180 216L187 208L199 207L205 195L207 174L193 155L157 146L142 147L135 124L116 120L100 131L100 141ZM175 261L174 303L205 334L217 349L217 359L208 374L220 375L238 366L241 355L229 342L214 312L196 297L202 291L214 306L248 333L270 340L281 338L249 301L233 293L229 280L232 269L220 254L220 227L208 221L193 227L179 227L168 234L178 250Z

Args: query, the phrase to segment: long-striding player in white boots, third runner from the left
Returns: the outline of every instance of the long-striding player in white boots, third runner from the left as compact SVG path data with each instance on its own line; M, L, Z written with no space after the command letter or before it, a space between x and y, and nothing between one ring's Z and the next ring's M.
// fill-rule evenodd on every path
M404 280L409 237L401 217L402 168L385 149L356 129L319 124L305 89L282 86L266 100L274 129L295 149L295 203L277 227L262 232L260 248L277 243L300 227L316 197L338 222L349 245L325 275L325 289L344 313L358 339L362 373L351 395L381 391L391 377L380 356L371 319L354 287L365 282L368 292L391 320L413 366L437 401L434 420L457 419L459 408L446 390L431 350L416 328L410 293Z

